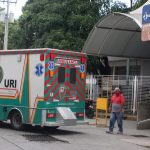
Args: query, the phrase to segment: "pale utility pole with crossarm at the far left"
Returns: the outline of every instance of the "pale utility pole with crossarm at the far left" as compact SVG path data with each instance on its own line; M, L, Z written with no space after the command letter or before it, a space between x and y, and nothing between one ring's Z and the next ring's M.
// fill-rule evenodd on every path
M4 50L7 50L8 47L8 22L9 22L9 5L10 3L17 3L17 0L11 2L11 0L1 0L0 2L7 3L7 12L5 15L5 33L4 33Z

